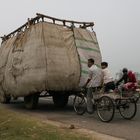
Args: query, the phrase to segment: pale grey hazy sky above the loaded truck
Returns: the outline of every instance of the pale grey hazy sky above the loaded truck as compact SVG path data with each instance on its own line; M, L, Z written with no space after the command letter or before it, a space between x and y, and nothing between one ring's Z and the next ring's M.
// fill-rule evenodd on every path
M94 21L103 61L112 73L122 67L140 72L140 0L0 0L0 36L37 12Z

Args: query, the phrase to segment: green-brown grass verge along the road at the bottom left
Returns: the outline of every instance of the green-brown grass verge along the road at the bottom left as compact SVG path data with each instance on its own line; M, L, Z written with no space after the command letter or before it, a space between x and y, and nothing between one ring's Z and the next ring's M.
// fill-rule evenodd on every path
M0 140L90 140L75 129L59 128L0 104Z

